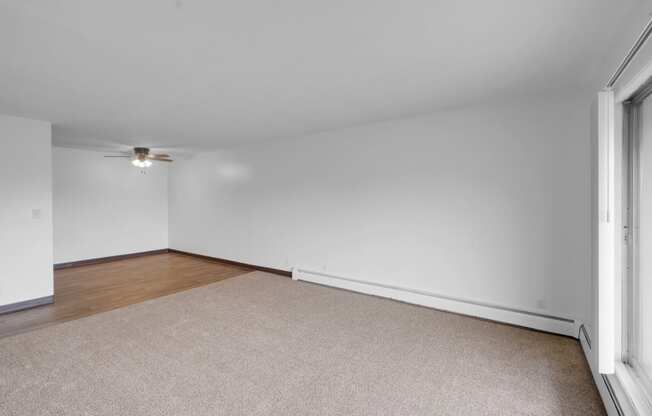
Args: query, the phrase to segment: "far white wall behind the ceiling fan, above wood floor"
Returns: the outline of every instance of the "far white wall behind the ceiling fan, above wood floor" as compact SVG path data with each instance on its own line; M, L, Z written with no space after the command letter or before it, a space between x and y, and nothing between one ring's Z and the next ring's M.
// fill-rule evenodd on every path
M54 147L54 262L168 247L168 167Z

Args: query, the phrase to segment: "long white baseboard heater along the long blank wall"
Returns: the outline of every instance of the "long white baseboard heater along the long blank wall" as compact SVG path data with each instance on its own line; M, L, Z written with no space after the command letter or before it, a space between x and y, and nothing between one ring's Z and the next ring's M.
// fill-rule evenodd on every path
M297 267L292 279L577 338L574 319Z

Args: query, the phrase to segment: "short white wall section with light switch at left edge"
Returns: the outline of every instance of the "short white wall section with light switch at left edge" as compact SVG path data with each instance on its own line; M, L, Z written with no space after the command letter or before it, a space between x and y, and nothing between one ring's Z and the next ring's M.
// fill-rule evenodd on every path
M0 306L53 294L51 147L49 123L0 115Z

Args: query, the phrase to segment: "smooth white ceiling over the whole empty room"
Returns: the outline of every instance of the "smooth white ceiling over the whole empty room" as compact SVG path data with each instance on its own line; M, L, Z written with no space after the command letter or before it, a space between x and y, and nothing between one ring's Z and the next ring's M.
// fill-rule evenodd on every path
M0 113L204 148L581 89L641 1L0 0Z

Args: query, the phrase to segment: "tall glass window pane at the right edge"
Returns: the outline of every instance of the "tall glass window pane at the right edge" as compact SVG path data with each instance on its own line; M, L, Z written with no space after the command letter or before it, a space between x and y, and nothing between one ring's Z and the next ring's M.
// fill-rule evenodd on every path
M641 399L652 403L652 87L624 106L621 357Z

